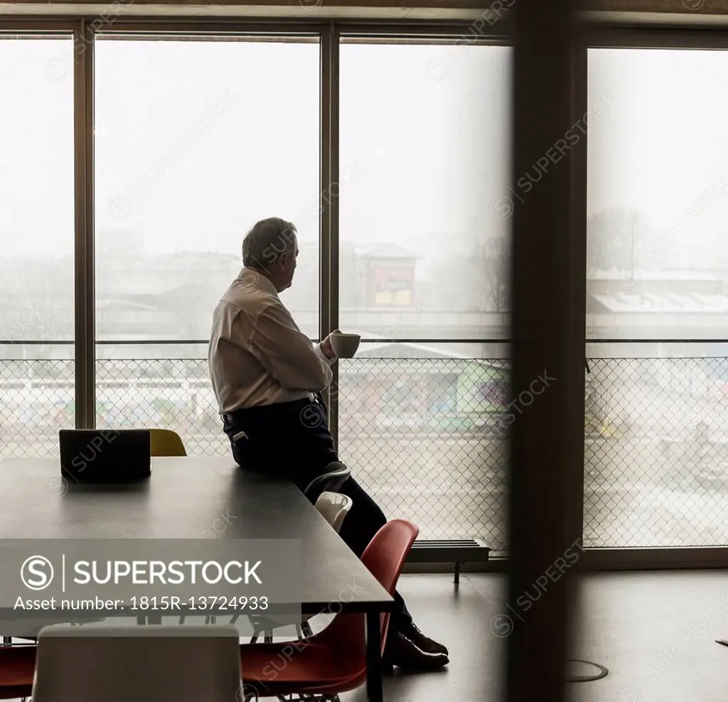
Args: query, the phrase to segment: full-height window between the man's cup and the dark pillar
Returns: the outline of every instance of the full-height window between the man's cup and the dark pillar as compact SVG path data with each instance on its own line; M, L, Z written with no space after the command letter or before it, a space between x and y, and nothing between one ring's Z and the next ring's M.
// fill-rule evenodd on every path
M423 538L505 548L510 48L341 44L339 452ZM460 343L458 343L460 342Z

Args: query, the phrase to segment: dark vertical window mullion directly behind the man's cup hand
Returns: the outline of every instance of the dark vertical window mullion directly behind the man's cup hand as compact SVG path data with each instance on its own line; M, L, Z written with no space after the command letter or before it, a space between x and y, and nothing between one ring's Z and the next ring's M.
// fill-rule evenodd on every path
M321 35L321 246L320 336L339 326L339 33L333 23ZM328 426L339 439L339 364L328 388Z

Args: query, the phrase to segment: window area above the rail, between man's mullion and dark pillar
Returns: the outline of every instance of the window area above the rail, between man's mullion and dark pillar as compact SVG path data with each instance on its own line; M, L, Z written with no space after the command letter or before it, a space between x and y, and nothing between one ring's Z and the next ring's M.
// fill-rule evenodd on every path
M509 94L508 47L341 45L342 328L507 336Z

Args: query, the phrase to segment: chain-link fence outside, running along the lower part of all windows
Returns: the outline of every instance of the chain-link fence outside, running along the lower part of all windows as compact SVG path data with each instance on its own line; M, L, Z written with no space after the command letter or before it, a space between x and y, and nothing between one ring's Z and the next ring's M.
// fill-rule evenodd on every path
M340 362L339 452L422 538L505 551L507 365ZM593 359L585 392L585 545L717 546L728 516L728 359ZM1 455L58 455L74 363L0 362ZM207 362L97 362L97 426L177 431L191 455L229 447Z

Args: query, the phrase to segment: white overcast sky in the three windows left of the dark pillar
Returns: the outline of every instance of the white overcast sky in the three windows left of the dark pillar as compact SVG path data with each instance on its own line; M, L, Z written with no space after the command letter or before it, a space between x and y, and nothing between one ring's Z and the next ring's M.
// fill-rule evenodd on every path
M22 108L0 116L7 252L68 250L70 49L0 43L14 67L0 87ZM341 169L356 175L342 177L342 238L430 247L503 230L489 205L505 185L509 50L471 47L438 81L427 65L442 53L342 47ZM99 235L136 233L147 252L237 253L245 228L276 214L296 221L302 239L317 237L315 211L304 215L319 193L317 44L98 41L95 59Z

